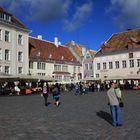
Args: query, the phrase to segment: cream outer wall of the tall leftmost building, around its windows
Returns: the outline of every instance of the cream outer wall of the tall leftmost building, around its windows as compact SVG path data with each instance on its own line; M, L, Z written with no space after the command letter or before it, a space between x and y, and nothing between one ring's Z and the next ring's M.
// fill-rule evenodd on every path
M2 40L0 41L0 48L2 49L3 58L0 61L2 65L3 72L4 67L10 67L10 74L17 75L18 74L18 67L23 68L23 74L28 74L29 67L28 67L28 33L23 32L22 30L17 30L13 27L0 24L0 29L2 29ZM10 32L10 42L5 42L5 31ZM23 35L23 45L18 45L18 34ZM4 60L5 49L10 50L10 61ZM23 62L18 62L18 51L23 52Z

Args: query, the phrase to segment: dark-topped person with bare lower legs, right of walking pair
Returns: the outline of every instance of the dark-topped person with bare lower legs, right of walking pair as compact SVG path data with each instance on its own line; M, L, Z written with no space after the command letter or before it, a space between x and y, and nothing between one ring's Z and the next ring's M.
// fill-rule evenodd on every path
M55 84L55 87L53 89L53 99L55 99L55 105L58 107L60 105L60 86L58 83Z

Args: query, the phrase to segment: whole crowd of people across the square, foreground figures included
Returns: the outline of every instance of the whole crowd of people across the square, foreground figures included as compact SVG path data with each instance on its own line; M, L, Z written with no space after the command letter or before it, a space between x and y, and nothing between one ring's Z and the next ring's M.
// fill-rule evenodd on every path
M8 83L5 83L1 85L1 88L6 88L8 87ZM28 83L25 83L25 90L24 92L27 92L26 94L30 94L33 90L31 90L31 85ZM54 99L54 104L58 107L60 105L60 97L61 93L63 91L70 91L70 93L74 93L74 95L85 95L90 92L96 92L99 93L103 90L106 90L107 96L109 103L108 105L110 106L110 111L111 111L111 116L112 116L112 125L114 127L116 126L121 126L122 125L122 120L121 120L121 109L123 105L120 106L120 103L122 103L122 93L120 89L119 84L115 84L113 82L110 82L108 84L101 84L99 82L89 82L89 83L84 83L84 82L79 82L79 83L71 83L71 84L51 84L49 85L47 82L42 82L38 84L38 91L41 93L41 95L44 97L44 104L45 106L49 105L48 102L48 96L52 94L52 97ZM8 88L9 95L16 94L20 95L21 94L21 84L20 83L14 83L13 85L11 84Z

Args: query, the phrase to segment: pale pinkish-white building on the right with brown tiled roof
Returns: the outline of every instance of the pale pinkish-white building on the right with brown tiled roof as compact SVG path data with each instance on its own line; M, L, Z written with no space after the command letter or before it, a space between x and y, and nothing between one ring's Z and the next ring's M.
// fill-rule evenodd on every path
M102 80L140 74L140 29L117 33L103 43L94 58L94 77ZM115 79L115 78L114 78Z

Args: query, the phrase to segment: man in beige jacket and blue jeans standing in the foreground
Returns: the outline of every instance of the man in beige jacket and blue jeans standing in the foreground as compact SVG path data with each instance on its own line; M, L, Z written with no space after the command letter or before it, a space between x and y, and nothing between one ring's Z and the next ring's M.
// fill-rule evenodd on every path
M112 124L114 127L122 126L121 122L121 110L119 107L119 101L117 94L115 93L115 83L111 83L111 88L107 91L107 96L109 99L111 115L112 115Z

